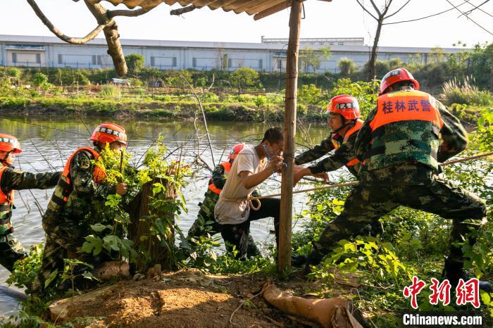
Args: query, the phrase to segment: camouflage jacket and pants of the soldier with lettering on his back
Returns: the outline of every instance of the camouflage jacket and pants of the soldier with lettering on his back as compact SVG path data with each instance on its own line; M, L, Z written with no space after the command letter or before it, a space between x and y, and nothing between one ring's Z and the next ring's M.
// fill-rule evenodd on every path
M377 106L370 112L354 145L356 157L359 160L366 160L361 166L360 183L347 197L342 213L325 227L320 240L313 242L314 250L308 264L319 263L325 253L337 246L339 240L351 238L358 227L378 220L400 205L425 210L452 220L450 244L454 241L462 241L461 235L468 232L468 227L476 228L475 225L464 223L464 220L481 220L486 216L485 202L478 196L436 175L439 170L436 160L444 162L463 151L467 145L467 134L461 122L447 111L442 103L435 99L432 101L435 101L435 108L443 121L441 130L436 134L429 128L423 130L425 123L418 120L385 125L385 132L381 135L384 140L382 145L375 145L377 133L370 127L377 110L382 108ZM438 147L438 132L443 140L440 147ZM396 141L398 146L394 148L392 139L398 138L399 141ZM372 149L372 143L373 147L383 147L384 153L381 156L371 157L368 163L368 152ZM435 150L435 163L419 163L426 161L424 156L419 158L420 156L413 155L413 158L419 160L412 161L399 158L402 155L399 151L402 149L423 153L426 151L433 153ZM394 156L392 151L401 155ZM391 155L388 156L387 153ZM428 161L434 161L434 156L428 158ZM386 165L387 163L391 164ZM451 245L449 260L463 263L461 249Z

